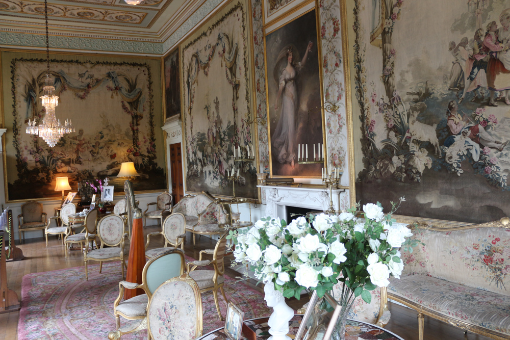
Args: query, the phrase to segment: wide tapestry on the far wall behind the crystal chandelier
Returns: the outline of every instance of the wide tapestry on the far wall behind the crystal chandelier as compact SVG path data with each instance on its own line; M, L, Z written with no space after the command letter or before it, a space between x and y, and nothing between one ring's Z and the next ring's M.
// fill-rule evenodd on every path
M56 116L70 119L75 132L50 148L25 133L29 120L39 124L44 117L41 57L2 53L8 200L59 197L54 189L60 176L73 190L80 181L108 177L122 192L125 178L116 177L122 162L134 162L140 174L135 190L166 189L163 136L156 128L162 124L160 61L53 56Z

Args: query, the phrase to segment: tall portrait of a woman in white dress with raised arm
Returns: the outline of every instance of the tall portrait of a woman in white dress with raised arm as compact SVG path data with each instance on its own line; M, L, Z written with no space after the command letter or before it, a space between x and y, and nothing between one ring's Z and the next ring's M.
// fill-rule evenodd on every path
M298 164L299 144L308 145L309 160L314 146L318 159L324 145L315 15L313 9L265 37L271 176L321 176L322 163Z

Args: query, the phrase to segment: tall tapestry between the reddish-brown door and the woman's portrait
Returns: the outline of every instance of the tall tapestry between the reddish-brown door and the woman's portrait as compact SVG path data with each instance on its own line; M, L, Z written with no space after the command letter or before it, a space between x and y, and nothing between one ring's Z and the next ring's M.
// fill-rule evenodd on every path
M248 12L231 2L182 44L186 192L259 199L257 161L234 161L257 151Z

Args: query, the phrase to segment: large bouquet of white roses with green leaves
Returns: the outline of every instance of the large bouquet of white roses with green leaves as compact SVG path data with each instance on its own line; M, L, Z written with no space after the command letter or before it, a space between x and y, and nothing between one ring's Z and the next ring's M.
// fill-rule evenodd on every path
M385 215L380 203L368 203L363 213L356 205L340 215L320 214L310 222L299 217L289 225L266 217L249 230L231 231L229 238L236 244L235 261L250 264L259 280L273 282L287 298L299 299L303 289L322 297L342 281L341 300L361 295L370 303L369 291L402 273L398 248L412 233L393 225L396 208L392 202L391 213Z

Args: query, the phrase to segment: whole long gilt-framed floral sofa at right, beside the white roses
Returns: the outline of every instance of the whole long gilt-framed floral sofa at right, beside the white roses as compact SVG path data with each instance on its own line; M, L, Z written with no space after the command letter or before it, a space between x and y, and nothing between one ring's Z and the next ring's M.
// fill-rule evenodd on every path
M411 227L404 270L388 297L465 332L510 338L510 219L463 227Z

